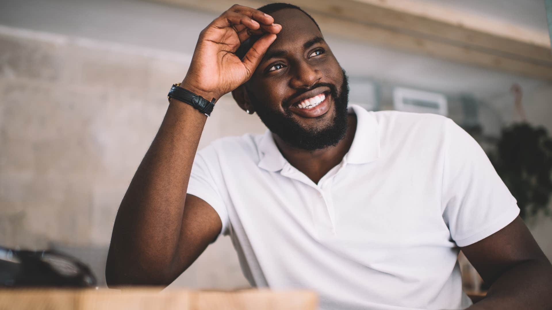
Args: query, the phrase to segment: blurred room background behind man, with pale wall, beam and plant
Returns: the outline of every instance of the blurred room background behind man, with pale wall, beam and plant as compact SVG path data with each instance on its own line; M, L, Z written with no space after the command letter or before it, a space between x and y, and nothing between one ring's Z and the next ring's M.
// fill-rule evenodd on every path
M243 1L259 7L266 1ZM552 53L543 0L295 1L368 110L443 114L470 132L552 259ZM100 286L115 214L199 32L233 2L0 3L0 245L56 249ZM200 148L264 132L223 97ZM466 290L481 289L461 259ZM172 286L242 288L230 238Z

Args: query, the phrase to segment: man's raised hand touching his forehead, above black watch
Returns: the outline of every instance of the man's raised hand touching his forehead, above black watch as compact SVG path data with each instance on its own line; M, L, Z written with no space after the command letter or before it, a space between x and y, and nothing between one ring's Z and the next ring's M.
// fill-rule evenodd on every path
M210 100L245 83L282 30L273 23L270 15L259 10L233 5L201 31L181 86ZM257 34L263 35L240 60L234 53L243 41Z

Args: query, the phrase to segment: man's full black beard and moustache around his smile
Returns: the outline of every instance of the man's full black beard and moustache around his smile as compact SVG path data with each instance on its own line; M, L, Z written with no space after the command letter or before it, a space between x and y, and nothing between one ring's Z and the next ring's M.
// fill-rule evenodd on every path
M253 94L249 93L251 103L264 125L291 147L315 151L316 149L336 146L347 133L349 83L345 70L342 69L342 71L343 83L341 84L339 93L336 86L330 83L317 83L304 91L307 92L321 86L330 88L330 95L335 106L335 116L332 122L325 127L305 129L299 122L293 119L293 113L289 109L286 109L284 113L270 110L266 104L257 100ZM328 110L328 112L330 111ZM323 115L318 117L323 117Z

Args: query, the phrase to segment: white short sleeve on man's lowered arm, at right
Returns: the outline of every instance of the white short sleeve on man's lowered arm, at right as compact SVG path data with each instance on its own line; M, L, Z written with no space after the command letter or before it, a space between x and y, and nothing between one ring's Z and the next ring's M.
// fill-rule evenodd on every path
M489 237L518 216L516 199L483 149L450 119L443 163L443 220L459 247Z

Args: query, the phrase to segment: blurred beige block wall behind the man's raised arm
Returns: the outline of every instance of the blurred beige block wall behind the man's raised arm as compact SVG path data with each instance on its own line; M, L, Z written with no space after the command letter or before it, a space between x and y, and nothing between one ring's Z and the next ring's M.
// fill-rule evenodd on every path
M0 244L84 255L101 283L119 202L189 56L5 27L0 55ZM224 97L200 147L224 135L264 132L254 119ZM247 282L224 238L179 284Z

